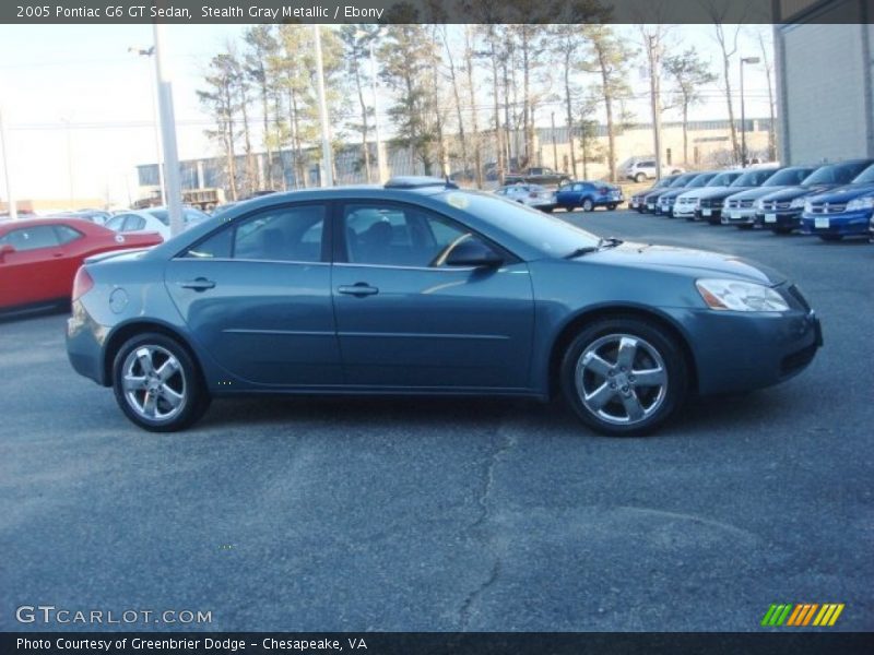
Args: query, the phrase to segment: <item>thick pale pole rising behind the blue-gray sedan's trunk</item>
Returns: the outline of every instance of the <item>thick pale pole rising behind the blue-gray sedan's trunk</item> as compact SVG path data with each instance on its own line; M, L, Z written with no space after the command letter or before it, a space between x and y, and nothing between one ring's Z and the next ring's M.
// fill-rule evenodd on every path
M161 111L161 136L164 145L164 181L167 187L167 212L170 217L170 236L185 228L182 224L182 188L179 181L179 155L176 150L176 118L173 110L173 73L164 40L165 25L154 24L155 72L157 79L157 102ZM158 166L161 163L158 162Z

